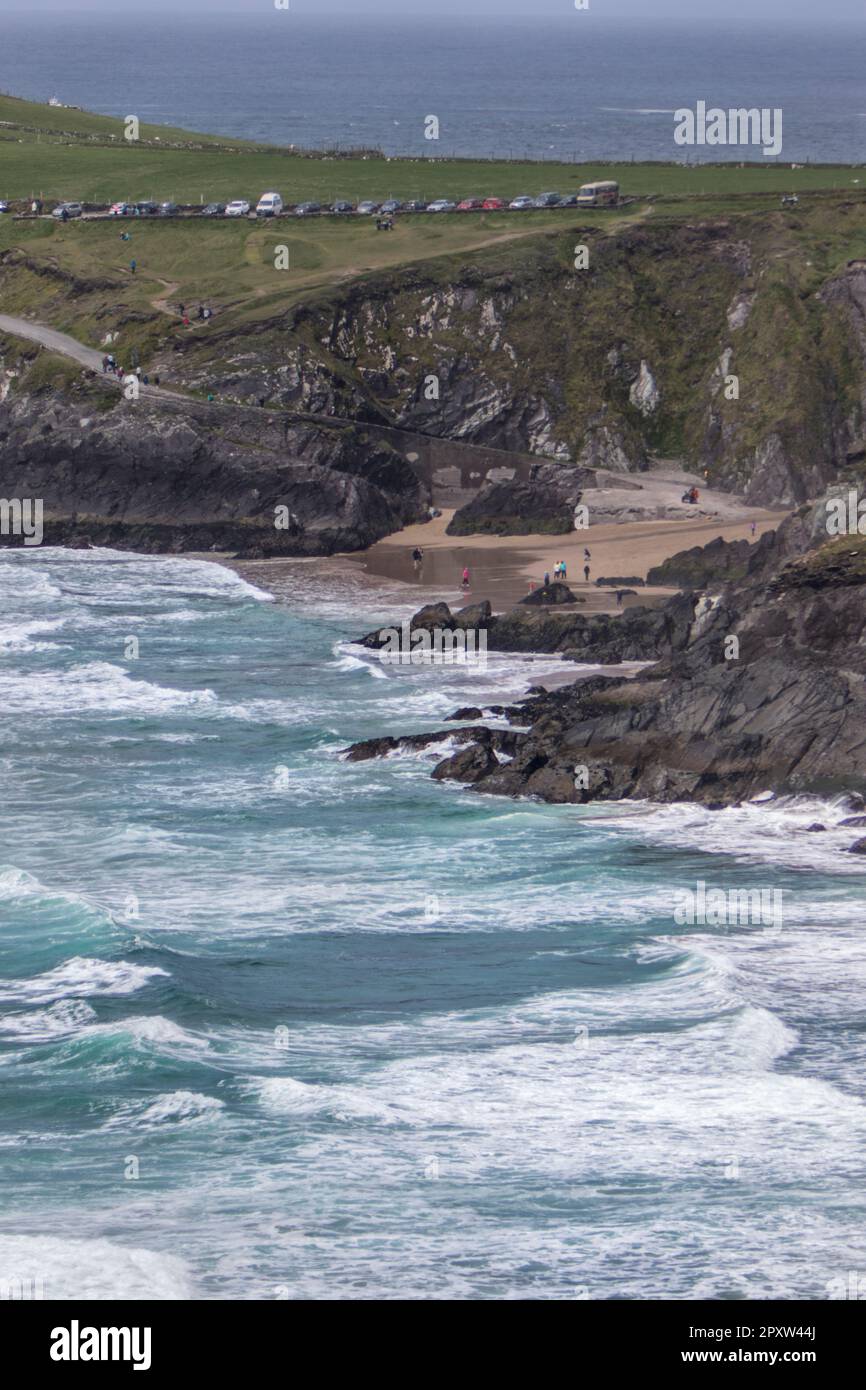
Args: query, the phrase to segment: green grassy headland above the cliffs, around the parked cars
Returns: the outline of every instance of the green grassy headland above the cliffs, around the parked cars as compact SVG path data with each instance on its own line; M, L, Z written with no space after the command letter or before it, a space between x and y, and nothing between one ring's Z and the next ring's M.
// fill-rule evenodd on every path
M53 324L97 348L107 331L120 332L125 352L142 361L175 334L207 334L193 320L183 328L178 303L209 302L220 328L267 320L302 299L329 293L342 284L384 271L425 263L453 274L460 257L489 253L491 263L517 267L532 254L539 236L557 239L566 261L570 246L631 222L738 217L765 229L778 227L780 254L790 232L809 250L805 263L827 272L848 256L863 254L866 174L856 168L784 170L735 165L525 165L470 161L310 158L238 145L202 149L178 142L207 143L207 136L143 126L150 143L108 147L120 122L107 117L42 107L0 97L0 197L17 192L46 197L75 196L107 202L142 196L197 202L215 196L257 196L268 186L284 197L364 195L434 197L442 193L503 195L575 188L616 172L635 202L617 210L555 210L531 213L455 213L398 217L392 232L377 232L371 218L317 217L256 222L246 218L74 220L0 215L3 309ZM40 124L44 122L44 124ZM25 129L26 126L26 129ZM61 132L68 132L63 135ZM156 145L154 132L163 145ZM15 179L19 179L15 183ZM835 190L828 192L828 185ZM780 208L780 193L799 188L796 210ZM641 196L644 195L644 196ZM649 197L652 195L652 199ZM769 221L767 221L769 218ZM121 240L128 232L131 240ZM784 235L783 235L784 234ZM275 267L275 250L289 250L288 270ZM559 254L559 253L557 253ZM135 257L136 274L129 271ZM438 270L436 270L438 274ZM810 271L812 274L812 271ZM808 286L803 285L803 292Z

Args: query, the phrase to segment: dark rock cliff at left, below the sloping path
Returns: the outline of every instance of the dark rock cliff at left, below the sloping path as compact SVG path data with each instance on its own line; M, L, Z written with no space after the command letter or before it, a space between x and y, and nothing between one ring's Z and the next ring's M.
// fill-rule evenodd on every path
M427 514L405 459L363 430L146 393L129 402L71 370L61 386L28 388L32 368L10 345L0 354L0 493L43 500L49 543L329 555Z

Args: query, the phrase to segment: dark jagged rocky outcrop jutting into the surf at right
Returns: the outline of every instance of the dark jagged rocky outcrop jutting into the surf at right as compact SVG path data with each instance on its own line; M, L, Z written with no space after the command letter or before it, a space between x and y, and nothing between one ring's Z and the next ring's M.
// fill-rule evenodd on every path
M827 541L820 509L762 538L745 577L716 592L569 623L570 635L582 634L569 655L651 664L635 678L595 676L505 710L530 726L507 760L480 733L435 777L553 802L727 805L767 790L866 791L866 539ZM498 620L491 646L521 624L516 614ZM556 630L535 635L537 649L563 651ZM363 756L377 752L364 745Z

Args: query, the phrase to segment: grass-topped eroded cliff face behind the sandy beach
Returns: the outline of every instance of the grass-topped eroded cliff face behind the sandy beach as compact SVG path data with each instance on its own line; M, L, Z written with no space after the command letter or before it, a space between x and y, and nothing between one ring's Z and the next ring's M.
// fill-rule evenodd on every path
M866 204L851 215L866 227ZM824 260L776 213L535 236L366 277L217 331L209 360L181 343L164 370L584 467L683 457L753 503L798 503L863 448L866 263Z

